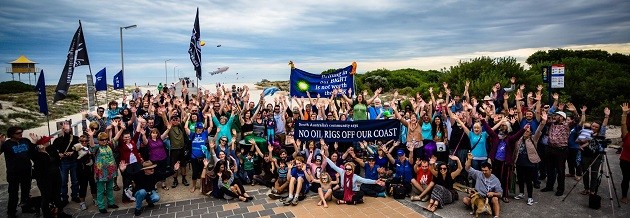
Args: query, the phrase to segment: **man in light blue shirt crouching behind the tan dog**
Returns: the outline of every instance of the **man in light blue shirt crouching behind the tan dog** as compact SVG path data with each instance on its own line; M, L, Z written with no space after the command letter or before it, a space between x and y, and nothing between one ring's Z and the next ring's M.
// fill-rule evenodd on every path
M475 179L475 190L477 193L471 193L470 196L464 197L463 202L467 206L477 208L475 211L473 211L476 216L479 216L479 213L483 211L479 210L479 208L484 208L487 202L492 206L494 217L499 217L499 214L501 212L499 198L501 198L501 193L503 193L501 182L496 176L492 174L492 165L490 165L490 163L482 163L481 171L478 171L471 167L472 159L472 154L468 153L468 159L466 160L466 171L468 171L468 174L473 179ZM479 196L482 198L487 198L488 201L476 201Z

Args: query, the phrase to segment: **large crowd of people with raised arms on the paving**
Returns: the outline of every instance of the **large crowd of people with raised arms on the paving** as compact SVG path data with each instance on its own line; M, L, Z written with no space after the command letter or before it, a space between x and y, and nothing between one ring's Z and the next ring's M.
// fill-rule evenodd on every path
M155 94L136 89L129 101L125 96L121 103L83 112L82 132L73 133L65 123L52 143L47 136L25 138L20 127L0 135L9 183L7 213L15 217L18 205L22 213L39 208L28 201L32 178L45 217L65 216L70 201L86 210L91 206L88 186L99 212L118 208L114 192L120 191L124 203L135 201L135 215L140 215L144 201L153 206L159 192L180 181L191 193L243 202L253 199L245 185L262 185L284 205L297 205L313 192L317 206L324 208L333 198L336 204L354 205L365 196L390 196L427 202L425 209L432 212L458 201L462 194L456 186L461 185L472 187L463 193L464 204L475 211L485 207L495 217L501 202L527 199L533 205L533 190L542 181L540 191L556 196L565 194L565 178L582 179L581 193L595 193L602 163L598 154L605 147L598 138L606 134L611 111L603 111L601 122L587 122L585 106L578 110L560 102L558 94L545 104L542 86L526 93L525 84L517 85L516 78L510 82L507 88L496 83L483 98L469 96L469 82L462 94L444 83L439 92L429 88L426 100L397 92L386 100L382 89L372 96L348 89L333 90L325 99L307 93L307 98L281 95L271 102L264 93L254 101L247 86L217 85L216 92L189 94L183 82L181 95L174 94L174 86ZM630 107L621 109L621 186L627 203ZM298 120L381 119L400 120L398 140L343 143L293 135ZM514 196L512 184L518 187ZM487 199L486 205L478 199Z

